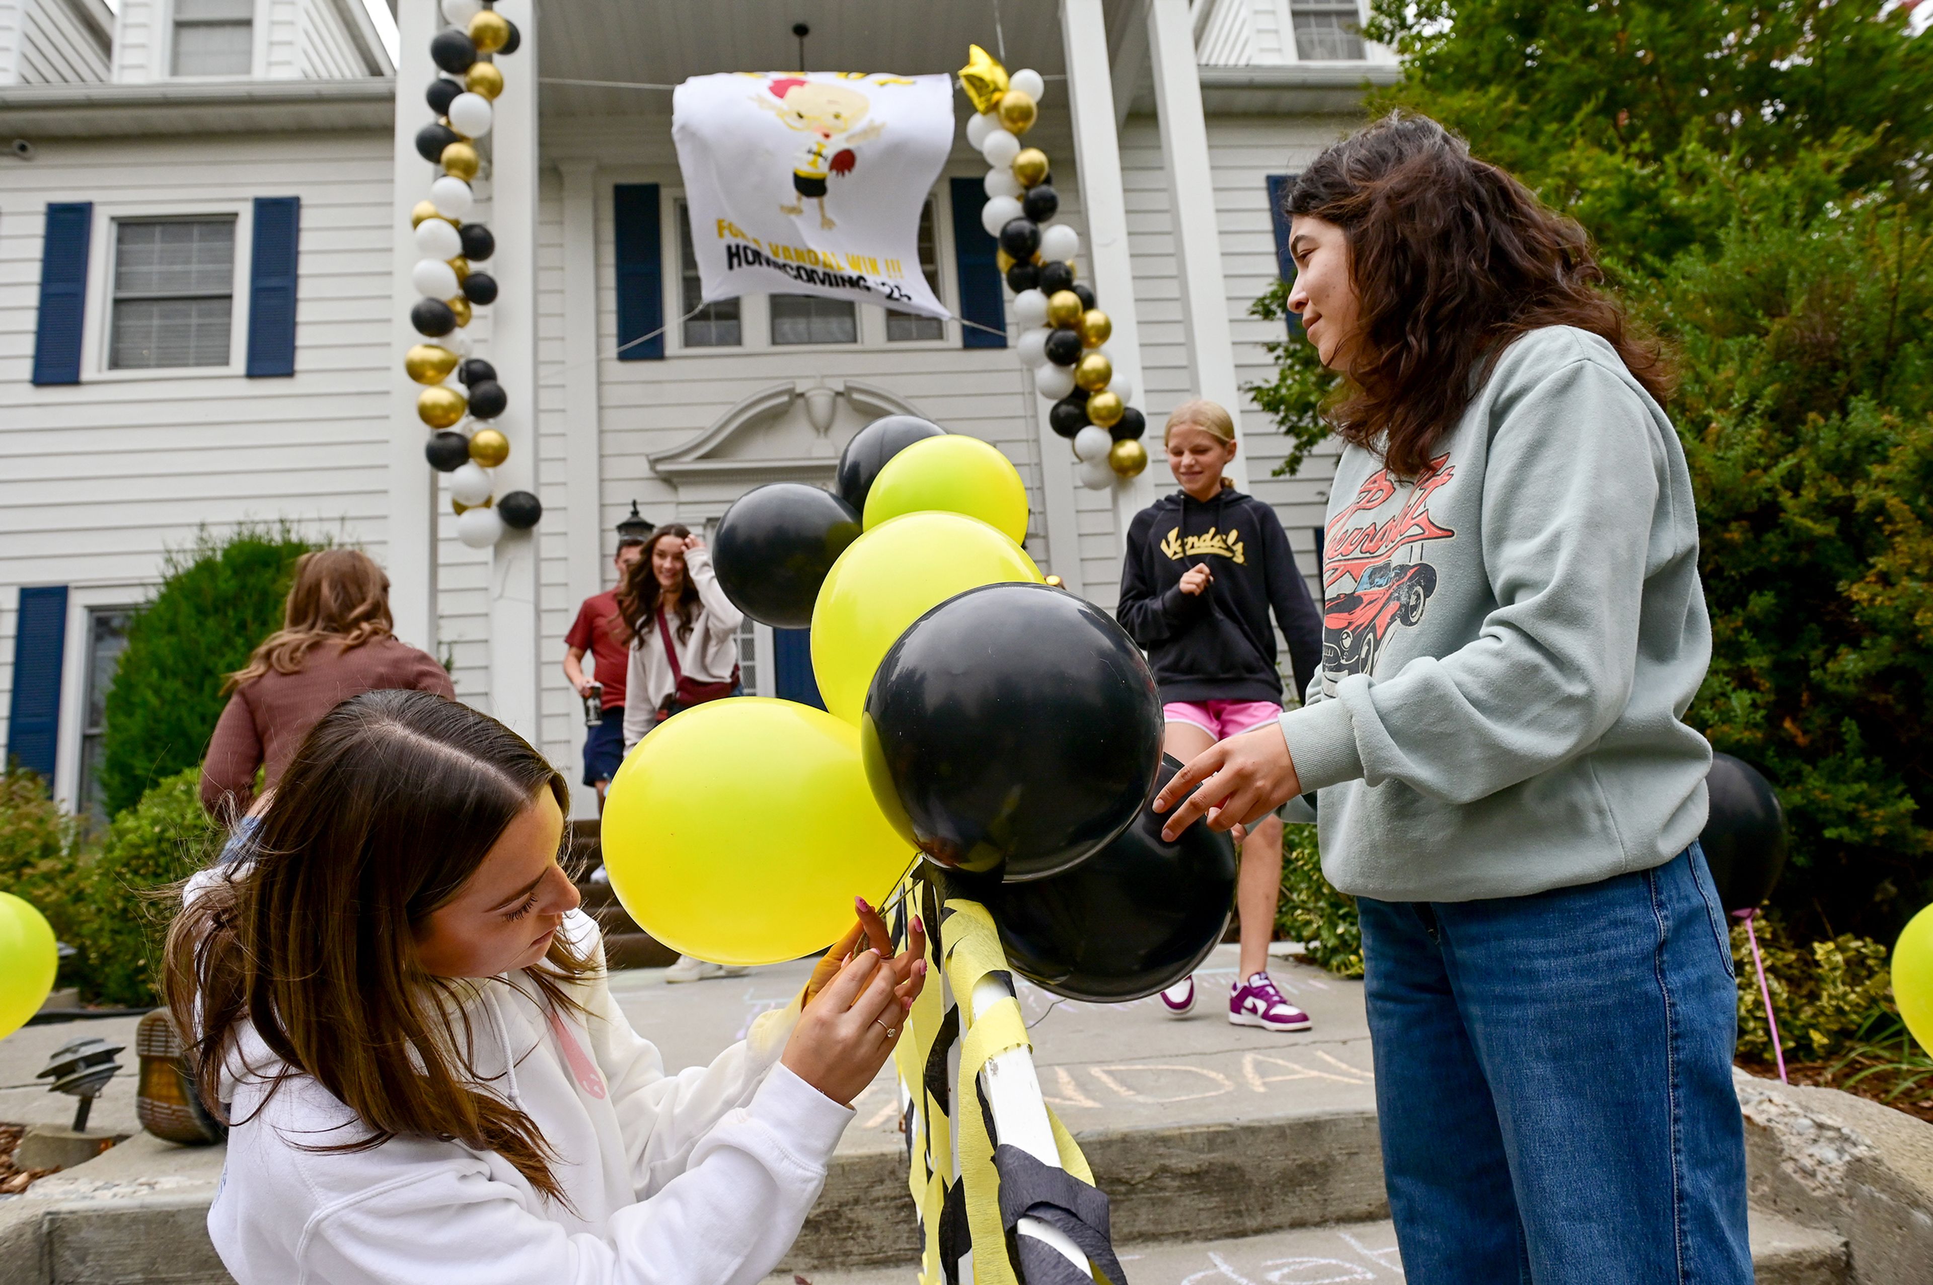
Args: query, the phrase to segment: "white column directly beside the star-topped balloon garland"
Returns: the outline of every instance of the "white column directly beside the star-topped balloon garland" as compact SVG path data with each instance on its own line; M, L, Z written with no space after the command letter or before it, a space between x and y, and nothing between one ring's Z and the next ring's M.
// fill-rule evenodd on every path
M1113 73L1108 68L1108 21L1102 0L1061 0L1061 46L1067 56L1067 110L1075 126L1075 164L1081 174L1081 209L1088 224L1086 253L1094 300L1113 321L1113 338L1108 340L1113 369L1133 381L1135 404L1146 408L1148 383L1140 369L1135 269L1127 255L1127 197L1121 191L1121 141L1113 124ZM1042 415L1042 450L1069 454L1067 443L1046 427L1046 415ZM1154 452L1148 454L1152 470ZM1154 500L1150 470L1113 487L1117 543L1127 543L1127 524Z

